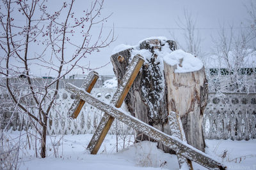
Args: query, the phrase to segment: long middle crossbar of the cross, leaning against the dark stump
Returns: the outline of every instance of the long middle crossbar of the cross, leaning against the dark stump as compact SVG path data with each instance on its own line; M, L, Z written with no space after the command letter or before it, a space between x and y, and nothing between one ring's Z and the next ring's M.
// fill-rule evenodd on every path
M127 67L127 71L124 74L124 78L120 81L118 88L113 96L113 98L110 101L110 104L113 104L116 106L116 108L120 108L125 96L129 92L129 89L132 86L132 82L136 78L138 72L140 71L140 67L142 66L144 62L143 57L140 55L134 56L131 63ZM115 118L109 116L108 114L104 113L102 119L100 120L100 123L96 129L96 131L93 134L93 137L87 147L88 150L90 150L91 154L97 154L99 151L99 148L106 137L106 134L108 134L109 128L111 127L113 121Z

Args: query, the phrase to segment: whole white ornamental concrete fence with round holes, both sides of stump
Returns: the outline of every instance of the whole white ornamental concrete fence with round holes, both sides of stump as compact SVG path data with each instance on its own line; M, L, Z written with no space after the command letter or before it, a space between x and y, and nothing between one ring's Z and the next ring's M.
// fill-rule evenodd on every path
M116 89L93 89L91 94L101 101L109 103ZM0 98L0 123L3 129L6 120L11 117L10 103L4 110L3 94ZM51 110L48 119L48 134L86 134L93 133L102 117L102 111L85 103L76 119L69 118L68 108L74 101L74 96L61 89L56 100L56 106ZM15 114L12 129L26 129L28 124L24 118ZM204 113L205 139L251 139L256 138L256 94L225 93L218 95L209 93L209 100ZM129 133L133 131L122 122L114 124L109 133Z

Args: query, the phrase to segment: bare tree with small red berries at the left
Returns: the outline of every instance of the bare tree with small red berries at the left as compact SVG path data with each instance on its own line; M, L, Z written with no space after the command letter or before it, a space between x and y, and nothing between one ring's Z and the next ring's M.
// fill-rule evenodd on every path
M2 0L0 11L1 88L8 91L18 112L28 115L40 135L42 158L46 156L49 112L61 78L76 68L90 69L81 64L84 58L115 40L113 30L105 38L102 34L109 17L101 16L103 0L86 2L88 9L82 13L77 12L75 0L58 1L58 6L51 3ZM92 34L93 25L101 25L97 35ZM35 67L55 78L37 81Z

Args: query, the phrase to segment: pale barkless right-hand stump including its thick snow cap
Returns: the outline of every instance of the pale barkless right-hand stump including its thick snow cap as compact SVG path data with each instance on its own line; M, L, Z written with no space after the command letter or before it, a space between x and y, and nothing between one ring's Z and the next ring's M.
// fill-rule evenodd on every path
M204 65L182 50L175 50L163 60L168 111L180 116L188 144L204 152L202 120L208 98Z

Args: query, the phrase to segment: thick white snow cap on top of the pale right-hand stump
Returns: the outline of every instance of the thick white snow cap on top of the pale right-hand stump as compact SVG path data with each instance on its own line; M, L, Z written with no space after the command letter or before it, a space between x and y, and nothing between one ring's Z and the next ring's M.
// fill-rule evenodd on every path
M177 65L175 73L188 73L198 71L204 66L203 62L192 55L191 53L184 52L183 50L175 50L168 53L163 57L164 62L170 66Z

